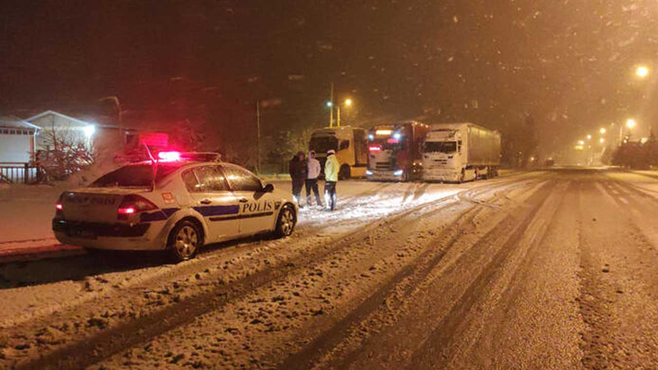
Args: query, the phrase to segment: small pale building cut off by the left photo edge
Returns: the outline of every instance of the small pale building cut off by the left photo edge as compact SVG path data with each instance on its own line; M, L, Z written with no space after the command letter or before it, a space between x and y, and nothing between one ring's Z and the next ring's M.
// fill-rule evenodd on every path
M0 163L32 161L39 130L39 126L18 117L0 116Z

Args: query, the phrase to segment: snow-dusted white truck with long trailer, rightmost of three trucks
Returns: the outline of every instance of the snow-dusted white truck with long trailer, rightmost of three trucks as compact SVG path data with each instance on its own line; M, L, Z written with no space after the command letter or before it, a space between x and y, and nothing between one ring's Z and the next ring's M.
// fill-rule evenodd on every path
M500 133L476 124L430 126L422 144L425 181L464 182L498 175Z

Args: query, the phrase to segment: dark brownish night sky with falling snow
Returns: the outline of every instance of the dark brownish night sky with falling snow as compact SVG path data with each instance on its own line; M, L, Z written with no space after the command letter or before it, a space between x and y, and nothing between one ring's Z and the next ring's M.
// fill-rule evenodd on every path
M351 119L509 130L531 114L551 148L657 119L655 78L634 76L656 65L657 18L653 0L5 1L0 112L93 113L117 95L136 120L239 120L280 99L270 127L321 126L333 81Z

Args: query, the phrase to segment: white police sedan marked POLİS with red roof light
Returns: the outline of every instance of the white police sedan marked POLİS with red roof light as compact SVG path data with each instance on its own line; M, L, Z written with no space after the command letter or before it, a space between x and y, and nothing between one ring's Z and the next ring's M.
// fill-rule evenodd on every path
M53 219L57 240L90 250L167 250L184 261L205 244L293 232L297 204L246 169L207 153L159 158L63 192Z

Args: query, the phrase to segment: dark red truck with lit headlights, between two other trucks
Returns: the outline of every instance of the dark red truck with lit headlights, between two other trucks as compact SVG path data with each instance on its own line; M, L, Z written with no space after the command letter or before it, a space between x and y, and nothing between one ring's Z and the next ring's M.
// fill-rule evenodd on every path
M420 145L428 129L428 125L413 120L370 128L368 180L420 180Z

